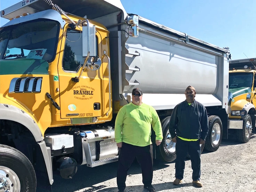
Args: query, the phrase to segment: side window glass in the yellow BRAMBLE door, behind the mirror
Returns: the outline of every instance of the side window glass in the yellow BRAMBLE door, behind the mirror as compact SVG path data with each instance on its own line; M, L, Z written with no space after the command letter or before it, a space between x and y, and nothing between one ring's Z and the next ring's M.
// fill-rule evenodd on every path
M68 29L62 67L65 71L78 71L85 58L82 52L82 32ZM96 35L96 55L98 55L98 38Z

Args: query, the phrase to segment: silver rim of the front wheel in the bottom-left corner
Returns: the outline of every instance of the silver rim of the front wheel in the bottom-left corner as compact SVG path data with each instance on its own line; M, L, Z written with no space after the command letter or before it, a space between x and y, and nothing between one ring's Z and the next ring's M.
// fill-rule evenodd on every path
M0 166L0 192L19 192L21 182L17 174L8 167Z

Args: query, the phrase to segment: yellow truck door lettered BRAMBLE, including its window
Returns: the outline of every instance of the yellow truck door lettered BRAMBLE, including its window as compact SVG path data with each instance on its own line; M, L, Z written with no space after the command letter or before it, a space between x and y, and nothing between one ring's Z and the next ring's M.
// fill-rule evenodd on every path
M86 66L79 82L71 80L79 77L85 61L82 57L81 33L78 27L75 30L66 28L63 34L65 38L62 38L63 56L59 58L58 74L61 118L83 118L79 122L85 123L84 118L100 117L103 114L104 86L102 67L92 71ZM101 36L96 33L96 55L102 58L101 53Z

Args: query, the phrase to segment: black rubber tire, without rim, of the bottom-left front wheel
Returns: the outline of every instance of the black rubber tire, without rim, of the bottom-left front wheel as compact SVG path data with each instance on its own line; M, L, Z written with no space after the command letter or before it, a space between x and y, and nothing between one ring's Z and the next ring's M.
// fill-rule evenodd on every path
M37 178L31 162L20 151L13 147L0 144L0 166L14 171L19 178L21 192L35 192Z

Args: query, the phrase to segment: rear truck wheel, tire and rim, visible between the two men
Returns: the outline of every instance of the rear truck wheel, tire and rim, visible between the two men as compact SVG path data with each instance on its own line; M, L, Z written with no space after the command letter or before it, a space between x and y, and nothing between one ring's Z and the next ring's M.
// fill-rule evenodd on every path
M162 132L163 132L163 140L159 145L159 158L163 161L171 162L176 159L175 146L176 143L171 141L171 135L169 132L169 122L170 116L166 117L161 121Z

